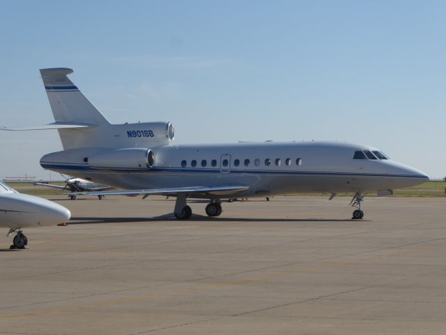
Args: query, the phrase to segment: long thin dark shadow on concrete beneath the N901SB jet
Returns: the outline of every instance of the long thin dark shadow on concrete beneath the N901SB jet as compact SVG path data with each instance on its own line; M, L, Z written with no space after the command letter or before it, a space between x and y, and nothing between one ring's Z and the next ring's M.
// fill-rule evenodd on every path
M153 218L94 218L94 217L72 217L69 225L86 225L92 223L126 223L126 222L155 222L155 221L178 221L174 214L164 214ZM190 221L214 221L214 222L350 222L350 218L210 218L194 214L183 222ZM362 220L367 221L367 220ZM355 221L357 222L357 221Z

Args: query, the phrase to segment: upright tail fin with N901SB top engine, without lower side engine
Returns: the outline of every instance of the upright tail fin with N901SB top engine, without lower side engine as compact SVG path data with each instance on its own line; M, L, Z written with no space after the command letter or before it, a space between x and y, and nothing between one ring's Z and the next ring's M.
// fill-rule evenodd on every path
M173 139L169 122L110 124L68 79L72 72L70 68L40 70L55 121L47 126L59 131L63 149L158 147Z

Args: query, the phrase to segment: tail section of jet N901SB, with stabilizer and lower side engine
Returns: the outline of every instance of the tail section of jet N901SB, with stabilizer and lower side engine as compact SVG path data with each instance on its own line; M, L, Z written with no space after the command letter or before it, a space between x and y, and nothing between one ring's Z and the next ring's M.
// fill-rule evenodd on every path
M155 164L155 151L174 139L170 122L110 124L68 79L70 68L40 70L54 122L43 126L0 127L3 131L59 131L63 151L43 156L43 168L59 172L94 168L144 170Z

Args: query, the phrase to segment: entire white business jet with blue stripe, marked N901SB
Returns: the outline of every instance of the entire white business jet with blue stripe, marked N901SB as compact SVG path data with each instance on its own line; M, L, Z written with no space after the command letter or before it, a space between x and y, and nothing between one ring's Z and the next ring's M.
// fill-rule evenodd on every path
M169 122L110 124L67 77L69 68L40 70L55 122L29 128L57 129L63 151L40 165L124 191L88 195L172 195L174 214L187 219L188 198L210 200L208 216L222 213L221 200L300 192L353 192L362 218L367 192L391 195L429 180L426 174L392 161L368 145L339 142L260 142L176 145Z

